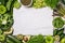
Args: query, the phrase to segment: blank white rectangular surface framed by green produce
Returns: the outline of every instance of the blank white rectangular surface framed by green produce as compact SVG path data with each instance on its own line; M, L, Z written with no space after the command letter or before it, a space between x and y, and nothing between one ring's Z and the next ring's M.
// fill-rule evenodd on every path
M14 34L53 34L52 12L49 8L22 6L20 10L14 9Z

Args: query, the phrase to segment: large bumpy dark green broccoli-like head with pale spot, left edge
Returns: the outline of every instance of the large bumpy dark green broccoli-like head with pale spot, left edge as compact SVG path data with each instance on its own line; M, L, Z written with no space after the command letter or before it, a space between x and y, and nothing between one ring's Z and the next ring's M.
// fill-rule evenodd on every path
M6 13L6 14L3 14L1 15L1 18L0 18L0 28L2 30L8 30L12 27L13 25L13 16L12 15L9 15L10 13Z

